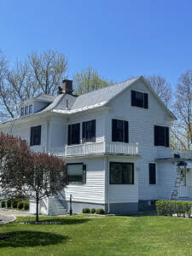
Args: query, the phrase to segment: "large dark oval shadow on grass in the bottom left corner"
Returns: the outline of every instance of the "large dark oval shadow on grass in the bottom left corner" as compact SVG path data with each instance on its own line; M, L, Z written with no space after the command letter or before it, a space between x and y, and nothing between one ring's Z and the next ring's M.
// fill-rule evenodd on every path
M5 234L4 234L5 235ZM67 241L67 236L38 231L15 231L6 233L9 238L0 240L1 247L38 247Z

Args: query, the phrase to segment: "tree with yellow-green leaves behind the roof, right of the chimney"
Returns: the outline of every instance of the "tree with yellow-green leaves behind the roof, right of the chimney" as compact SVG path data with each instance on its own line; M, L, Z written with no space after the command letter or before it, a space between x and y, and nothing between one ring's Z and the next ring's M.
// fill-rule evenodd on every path
M102 79L93 67L88 67L82 70L81 73L76 73L73 77L73 82L75 85L75 93L78 95L92 90L98 90L111 84L105 79Z

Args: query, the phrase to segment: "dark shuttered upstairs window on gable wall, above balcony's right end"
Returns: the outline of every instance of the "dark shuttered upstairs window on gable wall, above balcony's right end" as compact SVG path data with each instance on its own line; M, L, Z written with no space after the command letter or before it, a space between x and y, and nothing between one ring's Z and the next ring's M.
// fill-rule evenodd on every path
M129 124L125 120L112 119L112 141L129 142Z

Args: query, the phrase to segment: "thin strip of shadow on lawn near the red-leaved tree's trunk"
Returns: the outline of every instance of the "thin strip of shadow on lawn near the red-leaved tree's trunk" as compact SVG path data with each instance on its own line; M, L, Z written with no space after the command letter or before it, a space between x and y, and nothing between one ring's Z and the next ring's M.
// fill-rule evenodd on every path
M45 222L58 222L61 223L61 225L69 225L69 224L83 224L88 221L90 221L89 218L43 218L40 221L45 221Z

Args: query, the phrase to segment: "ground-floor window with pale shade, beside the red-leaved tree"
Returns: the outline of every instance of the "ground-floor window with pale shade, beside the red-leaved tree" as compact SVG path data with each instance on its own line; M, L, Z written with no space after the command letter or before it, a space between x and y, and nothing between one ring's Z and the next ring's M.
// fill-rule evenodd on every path
M82 163L67 164L68 183L86 183L86 166Z

